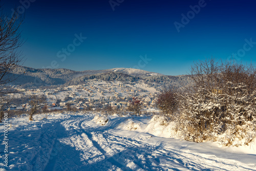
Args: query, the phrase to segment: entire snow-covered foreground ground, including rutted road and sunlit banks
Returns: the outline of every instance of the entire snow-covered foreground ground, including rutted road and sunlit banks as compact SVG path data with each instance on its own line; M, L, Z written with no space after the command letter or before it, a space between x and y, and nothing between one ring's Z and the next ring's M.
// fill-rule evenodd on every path
M169 138L157 118L50 113L9 119L0 170L256 170L256 142L221 147ZM0 125L4 134L3 123ZM1 135L2 139L3 135Z

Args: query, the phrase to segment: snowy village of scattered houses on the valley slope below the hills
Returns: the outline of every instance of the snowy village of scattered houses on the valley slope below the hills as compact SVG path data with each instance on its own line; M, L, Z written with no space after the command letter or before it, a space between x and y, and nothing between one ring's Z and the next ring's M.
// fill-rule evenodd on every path
M29 111L31 105L25 100L30 95L45 95L47 102L41 104L41 108L47 111L67 110L96 110L110 108L115 110L127 110L133 97L142 101L142 111L157 111L155 88L148 87L142 82L121 82L88 80L86 83L77 86L60 86L56 89L37 88L23 89L19 86L12 86L17 93L10 94L10 98L19 99L6 106L7 111ZM15 102L16 101L16 102Z

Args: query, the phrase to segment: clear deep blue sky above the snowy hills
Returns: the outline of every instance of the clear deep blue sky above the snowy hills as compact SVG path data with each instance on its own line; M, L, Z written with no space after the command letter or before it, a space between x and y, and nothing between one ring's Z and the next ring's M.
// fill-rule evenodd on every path
M7 15L15 5L25 14L27 67L181 75L210 56L256 63L255 1L30 1L1 1Z

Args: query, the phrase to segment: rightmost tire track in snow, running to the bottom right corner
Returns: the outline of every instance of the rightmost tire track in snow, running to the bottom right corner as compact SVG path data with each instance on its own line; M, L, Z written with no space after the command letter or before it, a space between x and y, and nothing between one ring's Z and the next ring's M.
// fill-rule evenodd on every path
M140 150L141 148L140 148L139 145L144 145L144 146L146 146L146 148L148 148L148 150L141 151L141 152L144 152L145 155L152 155L151 151L153 151L155 153L159 153L158 156L160 156L161 158L166 157L166 159L168 161L178 163L178 164L180 164L181 166L184 166L187 169L192 169L192 170L212 170L212 169L214 169L214 170L226 170L226 171L229 171L229 170L238 170L238 171L240 171L240 170L253 170L253 169L241 166L241 165L234 166L234 165L229 164L229 163L224 163L224 159L206 158L206 157L200 156L198 154L182 152L182 151L179 151L179 150L174 149L174 148L164 149L164 148L159 147L157 145L151 145L151 144L148 144L148 143L145 143L145 142L135 140L133 138L125 138L126 141L122 142L124 140L124 138L121 137L121 136L116 136L116 135L114 136L113 135L113 137L115 137L115 138L113 138L112 136L108 136L108 137L109 137L109 139L112 139L113 141L118 142L120 145L129 146L129 148L133 149L136 152L141 151ZM137 144L138 146L135 145L135 144ZM163 151L164 153L162 153L160 151ZM218 161L218 159L220 161ZM218 163L218 164L217 165L210 165L210 164L205 163L205 161L210 161L209 163L215 162L215 163ZM159 161L159 163L160 162L161 161ZM221 165L221 167L220 167L220 165ZM211 169L209 169L209 168L211 168ZM226 168L229 168L229 169L226 169ZM170 167L169 169L174 169L174 168Z

